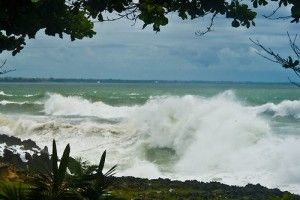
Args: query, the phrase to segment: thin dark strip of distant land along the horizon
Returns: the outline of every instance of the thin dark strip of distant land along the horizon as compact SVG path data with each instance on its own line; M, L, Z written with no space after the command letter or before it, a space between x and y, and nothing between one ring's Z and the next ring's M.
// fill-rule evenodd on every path
M0 83L202 83L202 84L291 84L290 82L251 82L251 81L200 81L200 80L126 80L126 79L77 79L77 78L0 78Z

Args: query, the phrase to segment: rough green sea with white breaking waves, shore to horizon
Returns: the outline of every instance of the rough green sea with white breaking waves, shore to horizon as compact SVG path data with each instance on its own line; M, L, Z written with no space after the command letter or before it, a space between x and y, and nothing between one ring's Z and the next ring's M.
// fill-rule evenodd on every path
M260 183L300 194L300 88L233 83L0 83L0 134L117 175Z

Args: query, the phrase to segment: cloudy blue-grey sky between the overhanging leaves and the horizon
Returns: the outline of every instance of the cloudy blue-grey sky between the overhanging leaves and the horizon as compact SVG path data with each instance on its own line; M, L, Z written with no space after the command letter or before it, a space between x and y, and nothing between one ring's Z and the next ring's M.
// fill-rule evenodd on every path
M269 9L269 10L268 10ZM263 13L271 12L271 8ZM280 11L288 14L287 9ZM283 55L289 49L286 31L299 33L299 24L284 20L256 19L256 27L232 28L230 20L216 19L213 32L196 36L204 30L208 20L182 21L169 15L169 24L159 33L151 26L128 20L96 23L97 35L92 39L71 42L39 32L36 39L16 56L5 52L2 59L15 68L6 76L39 78L91 78L130 80L201 80L288 82L297 80L259 55L249 38Z

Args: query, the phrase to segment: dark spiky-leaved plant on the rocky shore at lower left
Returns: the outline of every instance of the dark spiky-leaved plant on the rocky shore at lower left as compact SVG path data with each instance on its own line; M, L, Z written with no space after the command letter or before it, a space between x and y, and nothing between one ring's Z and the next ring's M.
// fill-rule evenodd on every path
M103 174L106 151L101 156L98 166L88 165L70 157L70 146L67 145L60 164L57 156L56 142L53 140L52 169L50 173L39 173L31 178L29 199L40 200L98 200L106 194L110 177L116 166ZM67 173L69 169L70 173Z

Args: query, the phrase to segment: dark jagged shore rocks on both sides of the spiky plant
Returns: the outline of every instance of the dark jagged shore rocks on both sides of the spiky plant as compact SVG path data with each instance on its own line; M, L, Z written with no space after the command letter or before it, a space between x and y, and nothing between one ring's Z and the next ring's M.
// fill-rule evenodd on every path
M108 158L109 159L109 158ZM50 165L47 147L41 149L32 140L0 135L0 180L15 180L18 171L34 172ZM300 200L300 196L279 189L268 189L259 184L245 187L218 182L171 181L169 179L142 179L112 177L110 199L251 199Z

